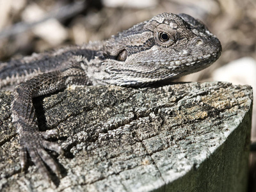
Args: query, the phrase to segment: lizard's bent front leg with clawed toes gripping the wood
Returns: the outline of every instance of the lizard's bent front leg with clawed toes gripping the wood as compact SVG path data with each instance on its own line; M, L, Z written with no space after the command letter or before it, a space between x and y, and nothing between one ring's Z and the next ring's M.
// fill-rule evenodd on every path
M47 179L50 179L50 177L45 164L56 175L60 175L60 168L45 151L45 148L58 152L58 154L63 154L63 150L59 145L44 140L44 137L38 131L32 99L33 97L61 90L67 87L68 84L88 84L84 70L78 65L70 65L61 71L33 77L33 79L16 86L13 91L12 121L19 134L21 167L23 169L26 165L28 153L39 172Z

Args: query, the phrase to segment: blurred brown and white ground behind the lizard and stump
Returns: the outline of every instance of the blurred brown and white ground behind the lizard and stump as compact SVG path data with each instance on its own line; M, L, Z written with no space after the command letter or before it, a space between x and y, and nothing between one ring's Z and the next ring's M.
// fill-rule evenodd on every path
M163 12L187 13L202 20L223 48L214 65L179 81L228 81L250 84L256 90L255 0L0 0L0 61L104 40ZM252 152L248 191L256 191L255 165Z

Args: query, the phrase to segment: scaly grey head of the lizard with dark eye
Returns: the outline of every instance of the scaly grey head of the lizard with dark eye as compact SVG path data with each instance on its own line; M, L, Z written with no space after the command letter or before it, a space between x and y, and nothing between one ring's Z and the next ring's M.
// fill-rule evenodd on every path
M139 86L174 79L209 67L221 44L199 20L162 13L106 42L105 83Z

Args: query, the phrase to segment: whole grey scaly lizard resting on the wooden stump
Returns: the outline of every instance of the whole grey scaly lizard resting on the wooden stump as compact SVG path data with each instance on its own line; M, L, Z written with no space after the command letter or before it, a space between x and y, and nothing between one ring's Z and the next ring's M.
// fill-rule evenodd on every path
M108 40L72 45L0 63L0 88L13 88L12 123L17 128L22 170L27 156L46 179L60 175L45 150L63 154L38 129L33 98L72 84L141 87L209 67L221 55L216 36L198 19L161 13ZM56 133L52 133L56 134Z

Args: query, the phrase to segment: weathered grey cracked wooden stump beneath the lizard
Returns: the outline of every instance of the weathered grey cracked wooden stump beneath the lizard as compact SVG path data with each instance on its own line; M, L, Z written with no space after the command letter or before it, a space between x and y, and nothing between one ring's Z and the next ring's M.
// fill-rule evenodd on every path
M0 92L1 191L246 191L252 88L72 86L35 99L40 129L65 156L54 184L19 165L10 92Z

